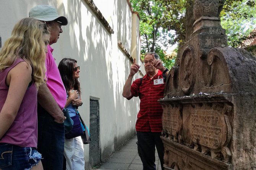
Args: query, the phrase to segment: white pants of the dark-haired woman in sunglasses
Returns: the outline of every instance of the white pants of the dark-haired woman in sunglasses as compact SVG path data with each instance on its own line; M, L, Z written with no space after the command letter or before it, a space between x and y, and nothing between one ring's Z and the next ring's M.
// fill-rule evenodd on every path
M84 147L81 136L66 139L64 143L66 170L84 170Z

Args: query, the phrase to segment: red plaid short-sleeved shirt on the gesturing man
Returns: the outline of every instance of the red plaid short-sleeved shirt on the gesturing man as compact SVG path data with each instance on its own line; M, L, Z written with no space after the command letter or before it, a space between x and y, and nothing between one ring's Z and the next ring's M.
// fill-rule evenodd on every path
M159 70L152 79L146 74L143 77L142 83L140 79L136 79L131 85L132 96L127 99L130 100L140 95L136 131L162 132L163 109L157 100L164 96L165 82L164 84L154 85L154 80L163 78L162 74Z

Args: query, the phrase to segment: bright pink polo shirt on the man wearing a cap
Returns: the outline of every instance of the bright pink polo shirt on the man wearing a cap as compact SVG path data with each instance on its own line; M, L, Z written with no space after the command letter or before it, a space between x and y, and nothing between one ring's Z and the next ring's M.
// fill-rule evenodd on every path
M60 72L52 56L52 47L48 45L48 53L46 54L45 60L45 77L47 79L46 85L52 93L53 98L57 102L60 109L63 110L66 104L66 90L60 77Z

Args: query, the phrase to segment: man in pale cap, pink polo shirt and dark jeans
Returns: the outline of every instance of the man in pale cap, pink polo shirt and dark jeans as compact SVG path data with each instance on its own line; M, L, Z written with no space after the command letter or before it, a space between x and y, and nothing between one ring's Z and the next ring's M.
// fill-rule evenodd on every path
M29 11L29 17L44 21L50 32L48 53L45 59L46 85L41 85L37 94L38 142L37 150L42 154L42 164L45 170L62 170L64 152L64 120L63 108L66 104L66 90L60 77L60 72L52 56L50 47L56 43L61 26L68 24L64 16L59 16L57 10L49 5L37 5Z

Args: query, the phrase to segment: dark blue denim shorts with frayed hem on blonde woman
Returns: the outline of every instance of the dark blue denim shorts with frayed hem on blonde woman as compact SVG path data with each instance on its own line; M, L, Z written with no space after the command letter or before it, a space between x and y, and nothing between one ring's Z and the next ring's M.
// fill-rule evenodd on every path
M36 148L0 143L0 169L2 170L30 170L41 159L42 156Z

